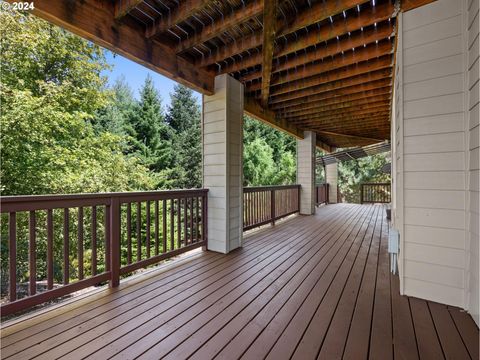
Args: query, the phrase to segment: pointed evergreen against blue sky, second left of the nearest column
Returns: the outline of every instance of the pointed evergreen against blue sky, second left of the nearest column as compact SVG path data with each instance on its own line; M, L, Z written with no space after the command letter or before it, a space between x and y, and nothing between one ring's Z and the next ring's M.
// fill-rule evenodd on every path
M160 94L150 75L140 90L140 101L129 124L132 151L150 170L160 173L172 165L172 132L162 111Z

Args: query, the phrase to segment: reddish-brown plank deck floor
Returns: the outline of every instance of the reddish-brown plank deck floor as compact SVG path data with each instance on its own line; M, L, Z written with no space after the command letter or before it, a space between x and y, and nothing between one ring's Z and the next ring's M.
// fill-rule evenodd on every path
M387 235L379 205L321 207L4 327L2 359L478 359L468 314L398 294Z

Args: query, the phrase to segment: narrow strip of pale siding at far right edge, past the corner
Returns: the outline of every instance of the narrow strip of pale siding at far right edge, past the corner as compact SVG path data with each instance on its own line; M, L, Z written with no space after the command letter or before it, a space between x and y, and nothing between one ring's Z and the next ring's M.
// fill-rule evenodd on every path
M467 48L467 133L468 133L468 238L467 238L467 308L479 324L479 0L466 0Z

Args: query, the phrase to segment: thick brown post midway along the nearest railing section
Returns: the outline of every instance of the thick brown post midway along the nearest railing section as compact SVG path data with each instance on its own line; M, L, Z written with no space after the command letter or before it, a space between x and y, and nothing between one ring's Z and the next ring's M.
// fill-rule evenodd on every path
M120 200L110 201L110 287L120 284Z

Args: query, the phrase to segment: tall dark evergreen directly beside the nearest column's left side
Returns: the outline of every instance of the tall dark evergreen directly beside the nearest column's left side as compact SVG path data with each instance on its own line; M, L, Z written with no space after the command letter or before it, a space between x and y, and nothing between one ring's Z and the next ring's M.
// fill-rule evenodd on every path
M183 85L175 85L170 96L167 121L175 133L171 186L179 189L199 188L202 186L200 106L193 91Z

